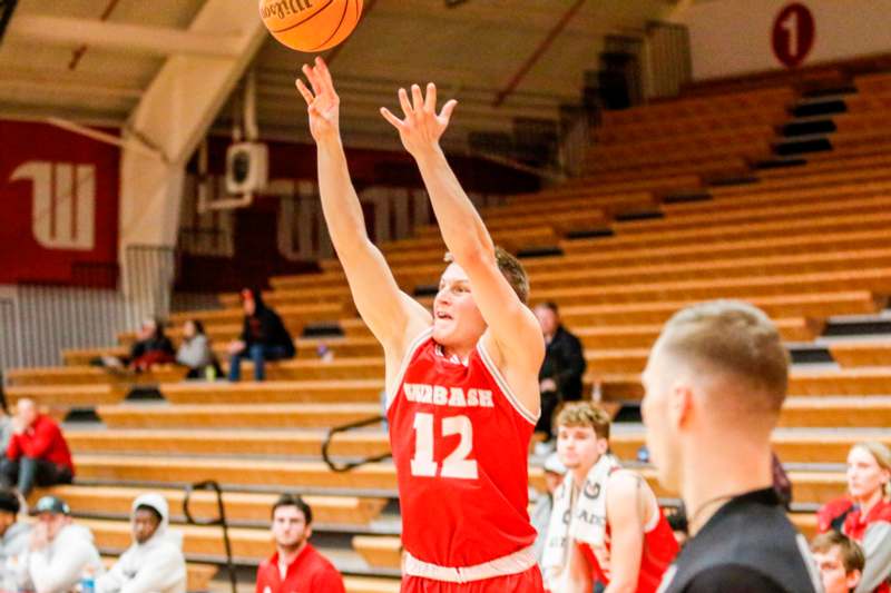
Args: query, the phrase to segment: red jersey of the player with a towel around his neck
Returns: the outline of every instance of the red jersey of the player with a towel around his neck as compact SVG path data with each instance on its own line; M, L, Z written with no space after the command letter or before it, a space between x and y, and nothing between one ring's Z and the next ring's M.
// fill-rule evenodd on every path
M606 525L606 538L604 541L606 547L606 557L609 557L611 548L609 545L611 530L609 523ZM591 574L596 581L605 585L609 584L609 569L606 570L600 566L597 554L590 545L586 543L577 544L581 548L588 565L591 567ZM649 525L644 526L644 548L640 553L640 572L637 574L637 593L655 593L662 583L663 573L668 569L675 560L679 547L675 534L672 532L672 526L668 525L662 508L658 513L653 515ZM601 554L603 556L604 554Z

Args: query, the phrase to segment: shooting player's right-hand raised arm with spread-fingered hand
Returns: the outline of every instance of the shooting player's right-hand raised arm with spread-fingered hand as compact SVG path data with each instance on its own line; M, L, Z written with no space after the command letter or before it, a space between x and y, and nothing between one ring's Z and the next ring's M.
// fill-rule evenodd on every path
M411 95L410 99L405 89L399 89L403 119L386 108L381 109L381 115L399 130L402 145L418 162L446 246L469 276L473 298L489 325L487 346L495 342L489 352L500 357L497 363L505 363L499 366L522 404L538 413L537 376L545 356L541 329L499 271L492 238L439 145L458 103L452 99L438 113L437 87L432 82L425 97L418 85L412 86ZM536 377L533 389L518 388L517 383L527 382L522 376L527 373Z

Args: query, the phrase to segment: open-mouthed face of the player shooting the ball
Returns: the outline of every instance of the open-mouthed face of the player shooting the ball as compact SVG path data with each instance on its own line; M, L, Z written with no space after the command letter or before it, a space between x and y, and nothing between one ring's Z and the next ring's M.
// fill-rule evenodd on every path
M473 300L470 278L461 266L450 264L433 299L433 339L443 346L472 345L483 332L486 320Z

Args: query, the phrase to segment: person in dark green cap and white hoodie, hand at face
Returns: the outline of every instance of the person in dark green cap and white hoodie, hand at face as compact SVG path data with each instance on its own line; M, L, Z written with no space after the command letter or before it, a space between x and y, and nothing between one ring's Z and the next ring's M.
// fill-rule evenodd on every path
M35 513L37 523L25 562L30 591L62 593L71 591L85 573L102 573L92 533L71 522L71 510L65 501L43 496L37 502Z

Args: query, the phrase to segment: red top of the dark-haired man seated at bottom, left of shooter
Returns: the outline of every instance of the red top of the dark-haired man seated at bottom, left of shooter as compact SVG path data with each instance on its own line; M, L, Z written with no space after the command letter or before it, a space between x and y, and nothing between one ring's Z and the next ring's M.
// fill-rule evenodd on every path
M257 571L256 593L344 593L343 579L331 562L307 543L282 579L278 552Z

